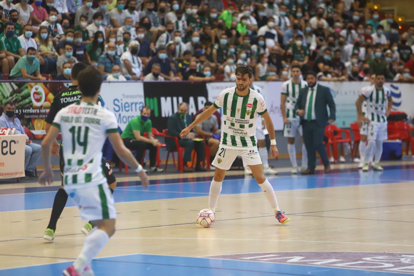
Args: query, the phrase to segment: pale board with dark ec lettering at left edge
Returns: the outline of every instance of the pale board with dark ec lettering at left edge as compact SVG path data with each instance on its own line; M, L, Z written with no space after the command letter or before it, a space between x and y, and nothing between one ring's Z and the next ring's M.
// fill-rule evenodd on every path
M25 145L26 134L0 136L0 178L24 176Z

